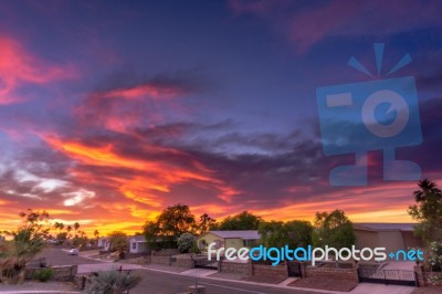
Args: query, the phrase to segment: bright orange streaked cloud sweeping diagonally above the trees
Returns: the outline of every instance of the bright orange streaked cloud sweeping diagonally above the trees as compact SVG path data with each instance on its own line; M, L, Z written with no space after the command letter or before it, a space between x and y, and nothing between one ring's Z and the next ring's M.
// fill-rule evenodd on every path
M218 190L218 197L230 202L240 193L214 176L214 172L198 162L190 155L167 147L145 146L147 154L173 155L185 158L188 166L178 166L173 160L155 161L119 155L113 145L104 147L88 146L76 141L63 141L54 136L40 135L53 148L70 158L90 166L124 168L131 176L108 176L108 185L117 189L126 199L159 209L162 206L161 195L170 192L171 187L182 182L191 182L194 187ZM74 176L94 182L97 175L73 170Z

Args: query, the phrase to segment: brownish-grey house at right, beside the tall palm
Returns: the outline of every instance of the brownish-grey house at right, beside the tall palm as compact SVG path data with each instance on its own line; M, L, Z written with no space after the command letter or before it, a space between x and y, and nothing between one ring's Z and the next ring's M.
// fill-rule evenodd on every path
M357 249L386 248L387 252L422 248L414 237L414 223L354 223Z

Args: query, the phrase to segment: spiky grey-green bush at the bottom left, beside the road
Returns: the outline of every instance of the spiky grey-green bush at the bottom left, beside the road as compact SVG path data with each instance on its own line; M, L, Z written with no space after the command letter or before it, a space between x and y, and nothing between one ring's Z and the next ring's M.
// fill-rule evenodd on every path
M87 285L85 293L90 294L123 294L135 287L141 277L120 273L117 271L98 272L92 276L91 283Z

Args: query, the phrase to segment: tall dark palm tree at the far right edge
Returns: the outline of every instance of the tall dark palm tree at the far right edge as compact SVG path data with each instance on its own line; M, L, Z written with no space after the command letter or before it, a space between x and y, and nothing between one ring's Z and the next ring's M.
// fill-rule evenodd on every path
M427 244L442 241L442 192L436 183L428 179L418 182L419 190L413 192L415 204L410 206L408 213L419 223L414 234Z

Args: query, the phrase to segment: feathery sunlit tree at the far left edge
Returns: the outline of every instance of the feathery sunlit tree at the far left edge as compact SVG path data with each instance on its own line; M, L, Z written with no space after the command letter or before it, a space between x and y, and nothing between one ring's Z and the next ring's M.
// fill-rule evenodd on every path
M0 261L0 280L19 283L24 280L27 262L32 260L45 245L51 225L46 211L20 212L22 224L9 233L11 241L3 246L3 260Z

